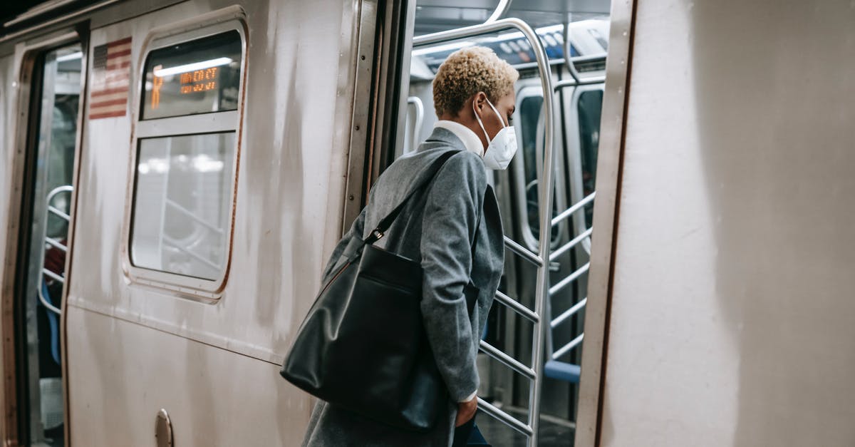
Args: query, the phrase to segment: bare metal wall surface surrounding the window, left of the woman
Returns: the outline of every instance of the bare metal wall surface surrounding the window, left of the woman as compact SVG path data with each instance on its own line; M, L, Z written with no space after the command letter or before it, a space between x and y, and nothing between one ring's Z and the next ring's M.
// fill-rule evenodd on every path
M214 303L130 283L121 222L147 33L233 3L190 1L92 30L91 47L133 37L133 97L127 116L85 122L66 307L74 444L151 444L160 408L181 445L302 438L311 399L279 364L341 234L359 3L241 5L249 45L237 207L231 270Z

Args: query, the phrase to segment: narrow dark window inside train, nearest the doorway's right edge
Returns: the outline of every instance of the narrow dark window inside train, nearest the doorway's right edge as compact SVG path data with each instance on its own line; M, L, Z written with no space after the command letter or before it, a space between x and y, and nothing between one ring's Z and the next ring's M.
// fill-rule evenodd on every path
M589 90L579 95L579 148L581 152L582 193L594 192L597 180L597 148L599 146L599 117L603 108L603 91ZM593 204L585 207L585 223L591 228Z

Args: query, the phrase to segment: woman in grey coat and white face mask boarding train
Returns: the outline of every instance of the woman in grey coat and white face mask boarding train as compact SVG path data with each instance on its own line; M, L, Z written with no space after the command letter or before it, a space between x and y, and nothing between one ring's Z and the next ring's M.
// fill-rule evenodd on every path
M324 271L326 283L346 241L352 235L367 236L366 229L374 229L404 200L409 185L429 175L425 170L433 160L445 152L457 152L433 177L428 193L411 200L375 244L422 259L422 319L452 403L432 431L407 432L320 401L312 412L304 445L416 447L457 444L461 439L465 444L478 405L479 336L504 264L501 218L486 169L504 170L516 152L510 116L518 77L490 49L469 47L451 54L433 80L439 117L433 134L380 176L368 206L335 248ZM470 277L479 289L471 313L463 297Z

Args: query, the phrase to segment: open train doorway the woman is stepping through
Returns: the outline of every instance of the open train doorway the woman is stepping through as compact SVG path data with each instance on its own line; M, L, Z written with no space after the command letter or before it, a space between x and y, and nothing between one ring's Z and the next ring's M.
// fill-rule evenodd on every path
M420 114L416 102L433 109L430 81L451 52L487 46L521 74L513 117L519 150L508 170L492 173L507 250L479 354L479 405L492 418L478 424L493 439L515 445L564 445L575 429L581 378L608 3L580 21L557 11L505 9L524 18L513 19L514 25L493 21L504 14L500 5L490 20L469 27L447 19L457 9L420 5L409 107L402 106L407 131L398 154L433 127L432 114ZM516 25L532 27L536 37L528 39ZM537 60L541 49L546 64Z

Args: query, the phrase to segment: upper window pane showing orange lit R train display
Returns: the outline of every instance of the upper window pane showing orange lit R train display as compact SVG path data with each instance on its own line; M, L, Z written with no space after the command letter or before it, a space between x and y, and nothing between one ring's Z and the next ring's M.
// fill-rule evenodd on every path
M237 31L151 51L142 119L237 109L240 53Z

